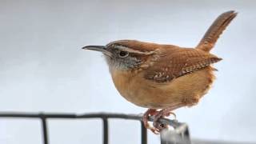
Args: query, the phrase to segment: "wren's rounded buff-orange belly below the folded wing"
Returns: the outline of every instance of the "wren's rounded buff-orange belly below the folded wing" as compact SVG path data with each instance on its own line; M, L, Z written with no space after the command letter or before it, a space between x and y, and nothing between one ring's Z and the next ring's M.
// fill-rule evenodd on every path
M137 106L153 109L180 103L183 106L193 106L206 94L214 80L211 67L163 83L147 80L143 78L143 74L133 77L128 75L112 75L119 93Z

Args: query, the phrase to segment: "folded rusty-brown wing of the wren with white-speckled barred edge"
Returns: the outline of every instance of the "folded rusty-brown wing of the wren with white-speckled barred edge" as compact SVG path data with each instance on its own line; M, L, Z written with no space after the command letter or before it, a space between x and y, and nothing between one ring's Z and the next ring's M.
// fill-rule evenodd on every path
M154 62L154 66L146 69L144 78L155 82L170 82L174 78L200 70L222 60L214 54L196 49L177 49L166 52Z

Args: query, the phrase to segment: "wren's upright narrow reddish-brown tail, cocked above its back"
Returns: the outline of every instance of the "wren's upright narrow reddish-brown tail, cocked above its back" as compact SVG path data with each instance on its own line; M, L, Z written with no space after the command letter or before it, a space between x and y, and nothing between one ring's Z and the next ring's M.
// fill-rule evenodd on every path
M214 47L222 31L226 29L226 26L230 24L237 14L234 10L230 10L218 16L196 48L209 52Z

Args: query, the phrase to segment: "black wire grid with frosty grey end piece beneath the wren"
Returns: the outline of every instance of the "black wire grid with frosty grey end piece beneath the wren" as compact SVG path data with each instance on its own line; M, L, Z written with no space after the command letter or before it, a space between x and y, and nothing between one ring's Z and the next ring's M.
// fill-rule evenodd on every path
M147 131L142 122L141 115L135 114L106 114L106 113L97 113L97 114L30 114L30 113L0 113L0 118L39 118L42 122L42 141L43 144L49 144L49 135L48 135L48 126L47 119L52 118L101 118L103 122L103 144L109 143L109 133L108 133L108 119L109 118L122 118L122 119L130 119L137 120L141 123L141 143L147 144ZM150 118L152 121L153 118ZM163 124L168 124L174 128L171 130L172 133L168 133L168 131L163 134L161 133L161 144L190 144L190 134L188 130L188 126L184 123L177 122L175 120L169 120L166 118L162 118L159 122Z

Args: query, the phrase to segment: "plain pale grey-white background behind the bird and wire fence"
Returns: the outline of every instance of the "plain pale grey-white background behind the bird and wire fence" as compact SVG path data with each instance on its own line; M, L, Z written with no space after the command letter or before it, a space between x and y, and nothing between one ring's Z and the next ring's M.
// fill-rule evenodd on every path
M193 138L256 142L254 1L0 1L0 111L146 109L122 98L102 54L81 50L118 39L196 46L214 18L237 10L213 54L218 79L198 106L176 110ZM51 144L101 143L101 121L52 120ZM110 142L139 143L139 123L110 122ZM40 144L36 119L0 119L1 144ZM149 143L159 143L150 133Z

